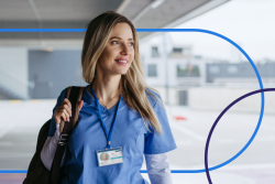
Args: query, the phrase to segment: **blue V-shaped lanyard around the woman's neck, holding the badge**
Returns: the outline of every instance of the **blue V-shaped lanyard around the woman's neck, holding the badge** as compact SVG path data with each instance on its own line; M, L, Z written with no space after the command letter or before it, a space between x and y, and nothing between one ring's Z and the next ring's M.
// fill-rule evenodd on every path
M111 148L112 131L113 131L113 127L114 127L114 123L116 123L116 120L117 120L117 115L118 115L118 111L119 111L119 106L120 106L120 101L121 101L122 96L120 96L119 105L118 105L118 107L117 107L117 110L116 110L116 113L114 113L114 118L113 118L113 121L112 121L112 125L111 125L111 130L110 130L109 136L108 136L108 130L107 130L107 128L106 128L103 118L102 118L102 116L101 116L99 101L98 101L98 98L97 98L97 96L96 96L96 94L95 94L95 91L94 91L91 85L90 85L90 89L91 89L91 93L92 93L92 95L94 95L94 97L95 97L95 99L96 99L96 101L97 101L97 107L98 107L98 111L99 111L99 116L100 116L100 120L101 120L101 126L102 126L102 128L103 128L103 130L105 130L105 136L106 136L106 138L107 138L107 143L108 143L108 144L107 144L107 148L110 149L110 148Z

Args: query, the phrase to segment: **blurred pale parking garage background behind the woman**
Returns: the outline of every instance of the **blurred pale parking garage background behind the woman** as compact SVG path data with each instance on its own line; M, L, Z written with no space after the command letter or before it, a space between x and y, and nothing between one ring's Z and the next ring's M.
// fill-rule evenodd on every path
M239 44L252 58L264 88L275 87L275 0L1 0L0 29L86 29L113 10L136 29L204 29ZM41 126L61 91L81 79L84 32L0 32L0 171L28 170ZM234 99L260 89L242 53L224 40L195 32L139 33L147 83L165 102L177 149L172 170L204 169L208 132ZM219 121L209 165L235 155L258 122L261 95L233 106ZM265 93L261 128L237 160L211 171L218 184L275 182L275 93ZM146 169L144 164L143 170ZM172 174L175 184L207 184L206 173ZM147 174L143 174L148 178ZM0 174L0 184L24 173Z

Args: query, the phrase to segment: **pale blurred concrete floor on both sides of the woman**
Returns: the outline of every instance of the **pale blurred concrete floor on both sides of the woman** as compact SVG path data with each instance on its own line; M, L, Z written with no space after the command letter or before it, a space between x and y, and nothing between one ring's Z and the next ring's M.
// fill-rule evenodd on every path
M52 117L54 100L0 102L0 170L26 170L41 126ZM222 109L221 109L222 110ZM219 111L167 107L177 149L169 152L172 170L204 169L205 144ZM176 116L187 120L176 120ZM209 165L235 155L249 141L258 113L229 111L218 123L209 147ZM275 113L264 115L261 129L248 150L228 165L211 171L216 184L275 183ZM145 169L143 165L142 169ZM147 178L147 174L143 174ZM174 184L208 184L206 173L172 174ZM25 174L0 174L0 184L22 183ZM147 180L148 181L148 180Z

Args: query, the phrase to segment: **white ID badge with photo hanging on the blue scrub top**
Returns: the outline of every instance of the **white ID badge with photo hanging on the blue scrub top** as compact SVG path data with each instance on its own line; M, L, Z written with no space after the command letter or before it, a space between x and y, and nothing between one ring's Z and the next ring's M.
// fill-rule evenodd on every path
M122 147L98 150L96 152L99 166L123 163Z

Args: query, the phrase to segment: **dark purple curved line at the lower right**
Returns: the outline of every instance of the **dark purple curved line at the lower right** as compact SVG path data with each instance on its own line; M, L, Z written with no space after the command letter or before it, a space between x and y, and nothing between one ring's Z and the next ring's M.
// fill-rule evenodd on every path
M209 143L210 143L210 140L211 140L211 136L212 136L212 132L216 128L216 126L218 125L219 120L221 119L221 117L232 107L234 106L237 102L241 101L242 99L249 97L249 96L252 96L252 95L255 95L255 94L258 94L258 93L264 93L264 91L275 91L275 88L265 88L265 89L258 89L258 90L253 90L251 93L248 93L241 97L239 97L238 99L235 99L233 102L231 102L224 110L222 110L222 112L219 115L219 117L216 119L215 123L212 125L211 129L210 129L210 132L207 137L207 143L206 143L206 149L205 149L205 167L206 167L206 174L207 174L207 178L208 178L208 182L209 184L212 184L212 181L211 181L211 177L210 177L210 173L209 173L209 170L208 170L208 148L209 148ZM251 140L252 141L252 140ZM246 143L249 144L249 143Z

